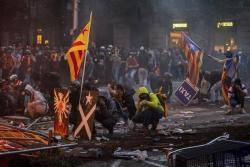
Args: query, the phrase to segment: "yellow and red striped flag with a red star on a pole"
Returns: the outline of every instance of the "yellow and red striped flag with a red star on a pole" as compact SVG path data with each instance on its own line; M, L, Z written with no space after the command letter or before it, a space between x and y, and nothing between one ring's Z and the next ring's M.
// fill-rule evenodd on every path
M91 23L92 23L92 12L90 14L89 22L82 29L76 40L73 42L71 48L66 53L70 68L71 81L77 79L77 76L81 69L81 64L87 52L89 45L89 34L91 29Z

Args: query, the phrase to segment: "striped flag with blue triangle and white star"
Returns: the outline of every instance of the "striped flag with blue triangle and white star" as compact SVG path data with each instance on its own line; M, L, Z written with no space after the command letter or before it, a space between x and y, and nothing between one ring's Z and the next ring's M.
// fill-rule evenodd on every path
M194 86L198 84L203 51L184 32L181 33L181 47L188 61L188 79Z

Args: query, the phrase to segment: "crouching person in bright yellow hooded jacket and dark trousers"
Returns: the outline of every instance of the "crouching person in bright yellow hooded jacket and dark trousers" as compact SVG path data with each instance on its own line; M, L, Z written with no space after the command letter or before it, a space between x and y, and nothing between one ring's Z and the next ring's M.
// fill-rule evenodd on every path
M137 113L132 118L134 123L142 123L144 128L148 130L149 125L152 125L151 130L156 130L159 119L163 116L163 107L157 95L149 93L146 87L138 89L139 101L137 106Z

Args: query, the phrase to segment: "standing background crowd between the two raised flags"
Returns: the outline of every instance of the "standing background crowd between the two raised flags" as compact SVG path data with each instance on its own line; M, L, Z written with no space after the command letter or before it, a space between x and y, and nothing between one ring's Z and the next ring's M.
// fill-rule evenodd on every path
M175 79L185 77L186 61L180 48L123 49L109 45L99 49L91 46L87 57L86 74L101 82L115 81L130 85L153 83L155 75L171 73Z

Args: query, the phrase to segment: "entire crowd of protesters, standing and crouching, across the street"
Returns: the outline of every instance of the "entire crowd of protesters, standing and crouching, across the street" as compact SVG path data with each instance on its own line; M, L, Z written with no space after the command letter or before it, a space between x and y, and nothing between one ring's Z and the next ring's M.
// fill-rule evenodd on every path
M218 102L220 94L229 106L228 114L237 107L246 112L247 89L238 75L239 55L227 52L222 72L201 72L197 98L210 97ZM173 92L172 79L184 80L188 62L180 48L152 50L122 49L112 45L89 48L86 57L83 89L99 91L95 120L109 133L119 119L142 123L156 130L159 120L167 115ZM0 50L1 115L25 114L31 118L53 115L54 88L70 90L70 122L79 117L80 83L69 81L64 49L16 46ZM104 91L103 87L108 88ZM221 91L222 90L222 91ZM135 96L137 95L137 96ZM135 99L136 97L136 99ZM95 132L95 130L94 130Z

